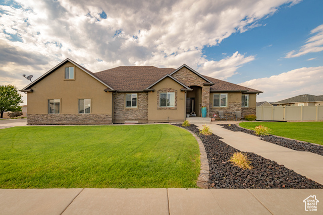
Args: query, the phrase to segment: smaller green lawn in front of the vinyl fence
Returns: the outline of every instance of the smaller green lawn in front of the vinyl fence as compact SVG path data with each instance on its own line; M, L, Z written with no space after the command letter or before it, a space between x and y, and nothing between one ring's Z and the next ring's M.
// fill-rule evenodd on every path
M254 130L263 125L272 134L323 145L323 122L241 122L241 127Z

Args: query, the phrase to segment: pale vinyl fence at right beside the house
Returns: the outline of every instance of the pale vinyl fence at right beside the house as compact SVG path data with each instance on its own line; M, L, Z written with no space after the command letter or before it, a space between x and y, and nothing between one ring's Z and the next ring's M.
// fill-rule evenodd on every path
M323 106L257 107L257 120L322 121Z

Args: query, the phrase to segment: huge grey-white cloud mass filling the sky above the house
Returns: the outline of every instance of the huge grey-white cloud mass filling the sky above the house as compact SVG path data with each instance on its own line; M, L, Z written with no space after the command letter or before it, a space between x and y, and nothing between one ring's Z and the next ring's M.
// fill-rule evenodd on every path
M6 74L31 73L37 78L69 57L92 71L119 65L176 68L186 63L226 79L254 56L235 52L212 61L203 55L203 47L255 28L281 5L299 1L16 2L20 7L0 6L0 65ZM100 18L102 11L106 19Z

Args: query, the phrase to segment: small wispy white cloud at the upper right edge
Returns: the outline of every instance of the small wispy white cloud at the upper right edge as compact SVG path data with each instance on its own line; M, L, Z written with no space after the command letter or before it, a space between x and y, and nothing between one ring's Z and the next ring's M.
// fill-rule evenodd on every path
M323 25L317 26L311 30L310 34L314 34L306 44L300 47L299 50L293 50L286 54L286 58L299 57L308 53L323 51Z

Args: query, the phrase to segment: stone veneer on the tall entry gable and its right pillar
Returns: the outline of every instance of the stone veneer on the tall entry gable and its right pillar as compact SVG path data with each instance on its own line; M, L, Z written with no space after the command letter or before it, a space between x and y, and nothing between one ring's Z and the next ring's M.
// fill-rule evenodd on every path
M206 83L205 80L198 77L189 69L183 67L178 70L176 73L172 75L175 79L182 82L186 86L199 86L202 88L202 98L201 98L201 105L200 105L200 113L201 107L206 107L206 116L209 115L209 98L210 98L210 86L203 86L203 83Z

